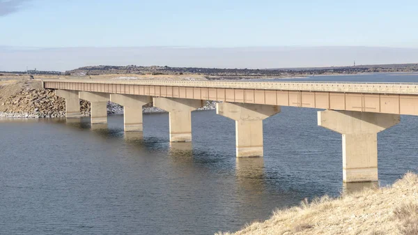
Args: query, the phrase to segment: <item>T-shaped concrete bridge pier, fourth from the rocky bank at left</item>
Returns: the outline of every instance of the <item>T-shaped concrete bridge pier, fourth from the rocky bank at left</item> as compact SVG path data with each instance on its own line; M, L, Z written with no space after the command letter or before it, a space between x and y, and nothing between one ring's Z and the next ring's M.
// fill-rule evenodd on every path
M154 98L154 107L169 112L170 142L192 141L192 111L203 106L203 100Z

